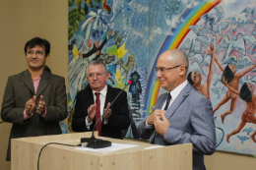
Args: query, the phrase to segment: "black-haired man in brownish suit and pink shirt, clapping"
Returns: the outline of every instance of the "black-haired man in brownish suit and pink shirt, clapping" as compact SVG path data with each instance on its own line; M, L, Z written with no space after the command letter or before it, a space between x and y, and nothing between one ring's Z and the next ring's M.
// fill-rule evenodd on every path
M13 123L6 160L11 160L11 139L61 134L59 121L67 115L62 77L43 71L50 44L34 37L25 45L28 70L8 78L1 117Z

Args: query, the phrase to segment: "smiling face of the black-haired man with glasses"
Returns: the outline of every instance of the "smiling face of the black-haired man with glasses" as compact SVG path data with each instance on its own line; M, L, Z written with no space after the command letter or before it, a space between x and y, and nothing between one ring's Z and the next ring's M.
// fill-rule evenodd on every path
M26 59L29 69L36 70L43 68L45 62L49 58L49 54L45 56L44 46L35 45L34 47L27 48Z

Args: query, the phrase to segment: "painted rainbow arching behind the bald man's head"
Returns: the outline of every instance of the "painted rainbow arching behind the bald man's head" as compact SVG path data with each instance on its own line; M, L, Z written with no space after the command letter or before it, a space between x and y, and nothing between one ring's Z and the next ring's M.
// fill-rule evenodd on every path
M199 3L195 5L192 8L187 8L183 14L180 16L180 19L183 19L184 22L180 22L176 28L171 28L171 32L173 35L167 35L164 39L160 51L156 57L156 60L154 62L151 74L149 78L151 78L148 82L146 94L145 94L145 107L144 110L147 110L146 115L147 116L151 113L151 108L156 104L156 101L159 96L160 92L160 83L155 82L156 78L156 72L154 69L157 66L158 59L160 57L160 54L166 50L169 49L177 49L184 39L184 37L187 35L187 33L190 31L188 26L196 25L197 22L200 20L200 17L206 13L208 13L210 10L212 10L214 7L216 7L218 4L220 4L222 0L216 0L216 1L202 1L202 2L195 2Z

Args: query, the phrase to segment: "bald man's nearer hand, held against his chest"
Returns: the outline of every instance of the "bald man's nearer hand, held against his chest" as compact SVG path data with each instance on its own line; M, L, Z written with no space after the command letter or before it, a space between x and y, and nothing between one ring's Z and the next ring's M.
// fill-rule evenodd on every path
M160 119L162 118L162 120ZM164 136L167 128L170 126L169 121L166 119L164 113L162 113L161 117L157 116L154 126L156 131L161 135Z

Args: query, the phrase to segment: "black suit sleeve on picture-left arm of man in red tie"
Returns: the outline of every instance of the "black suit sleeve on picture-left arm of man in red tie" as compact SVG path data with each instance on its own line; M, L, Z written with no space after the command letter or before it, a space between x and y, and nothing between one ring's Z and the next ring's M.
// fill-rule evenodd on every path
M86 115L83 114L81 101L80 101L80 93L77 94L76 100L77 101L75 105L75 112L72 120L72 130L75 132L88 132L89 130L87 129L87 126L86 126L86 117L88 113L86 113Z

